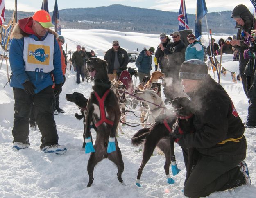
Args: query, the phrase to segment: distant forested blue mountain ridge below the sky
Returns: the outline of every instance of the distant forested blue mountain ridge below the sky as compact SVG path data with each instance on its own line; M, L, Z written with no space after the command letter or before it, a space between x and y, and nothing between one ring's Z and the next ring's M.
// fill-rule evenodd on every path
M6 21L12 11L6 10ZM52 15L52 13L50 13ZM18 19L32 16L33 12L18 11ZM69 8L59 10L61 28L65 29L110 29L127 32L170 34L178 29L177 12L160 11L119 4L96 8ZM235 22L231 11L211 12L207 14L208 28L213 34L236 34ZM195 14L188 14L190 29L195 30ZM202 32L207 32L205 19L202 20Z

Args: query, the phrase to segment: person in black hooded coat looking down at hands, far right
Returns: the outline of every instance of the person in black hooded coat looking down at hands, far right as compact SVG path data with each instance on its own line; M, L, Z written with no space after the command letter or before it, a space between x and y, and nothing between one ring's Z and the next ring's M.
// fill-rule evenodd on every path
M245 5L238 5L236 6L231 14L231 18L236 21L235 28L238 28L236 38L237 40L230 41L232 46L236 46L239 48L240 56L239 56L239 75L242 79L242 85L247 95L247 76L245 75L245 66L248 63L248 59L245 59L243 54L248 46L244 43L245 37L242 36L241 32L248 32L251 34L251 29L253 27L253 16L249 9ZM251 74L252 76L254 74Z

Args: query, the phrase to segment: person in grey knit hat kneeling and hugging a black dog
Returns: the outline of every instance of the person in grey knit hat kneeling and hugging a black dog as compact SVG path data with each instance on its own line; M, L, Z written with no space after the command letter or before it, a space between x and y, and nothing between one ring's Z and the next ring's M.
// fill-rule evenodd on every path
M192 59L181 65L184 92L193 108L194 133L180 134L179 126L171 134L179 138L187 166L188 150L195 148L195 167L185 186L184 195L206 197L242 184L250 185L246 157L244 125L222 86L208 75L207 65ZM175 135L176 134L176 135Z

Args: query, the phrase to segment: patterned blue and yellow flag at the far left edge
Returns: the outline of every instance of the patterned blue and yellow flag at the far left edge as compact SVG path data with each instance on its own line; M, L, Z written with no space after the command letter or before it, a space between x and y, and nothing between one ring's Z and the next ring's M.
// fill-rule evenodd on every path
M9 21L8 25L1 25L1 47L2 49L6 49L6 52L9 52L10 50L10 44L11 44L11 31L14 27L14 12L12 14L12 18Z

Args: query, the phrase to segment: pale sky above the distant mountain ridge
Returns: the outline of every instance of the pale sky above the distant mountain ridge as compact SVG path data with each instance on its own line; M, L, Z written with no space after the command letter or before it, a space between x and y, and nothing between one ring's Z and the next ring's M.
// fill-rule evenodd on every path
M17 0L18 10L35 11L41 9L43 0ZM126 6L158 9L162 11L179 11L181 0L58 0L58 7L79 8L79 7L99 7L112 4L122 4ZM55 0L48 0L49 11L53 11ZM15 0L5 0L6 9L14 9ZM185 0L187 13L195 14L196 0ZM250 0L206 0L208 12L232 10L236 5L244 4L251 11L253 6Z

